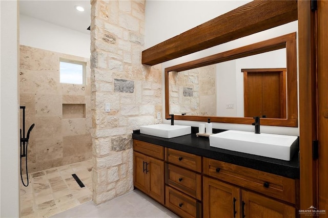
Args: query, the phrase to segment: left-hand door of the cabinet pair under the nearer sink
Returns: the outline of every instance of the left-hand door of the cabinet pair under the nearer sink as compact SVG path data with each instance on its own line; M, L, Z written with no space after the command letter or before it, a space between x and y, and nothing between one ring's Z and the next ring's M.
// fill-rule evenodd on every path
M203 177L203 217L239 217L240 189ZM249 216L250 217L250 216ZM252 216L254 217L254 216Z

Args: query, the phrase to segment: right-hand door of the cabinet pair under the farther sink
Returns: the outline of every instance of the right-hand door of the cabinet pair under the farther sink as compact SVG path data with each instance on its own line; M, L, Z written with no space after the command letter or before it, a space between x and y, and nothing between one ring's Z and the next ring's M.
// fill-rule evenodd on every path
M164 204L164 162L147 157L147 194Z

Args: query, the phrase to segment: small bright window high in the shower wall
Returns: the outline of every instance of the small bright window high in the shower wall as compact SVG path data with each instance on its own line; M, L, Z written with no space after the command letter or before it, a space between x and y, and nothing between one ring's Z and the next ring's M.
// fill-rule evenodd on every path
M86 63L60 59L60 83L85 84Z

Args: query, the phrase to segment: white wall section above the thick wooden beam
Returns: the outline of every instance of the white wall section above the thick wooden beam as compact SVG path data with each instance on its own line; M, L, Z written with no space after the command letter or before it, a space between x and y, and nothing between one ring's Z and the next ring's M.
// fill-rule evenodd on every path
M248 2L251 0L147 0L145 48L150 48Z

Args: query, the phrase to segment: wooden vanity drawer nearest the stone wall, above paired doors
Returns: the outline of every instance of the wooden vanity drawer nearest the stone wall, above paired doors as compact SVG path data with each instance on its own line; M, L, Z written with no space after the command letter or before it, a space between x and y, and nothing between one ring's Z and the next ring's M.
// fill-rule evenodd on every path
M164 159L164 147L160 145L154 145L148 142L133 140L133 150L153 158L157 158L160 160Z

